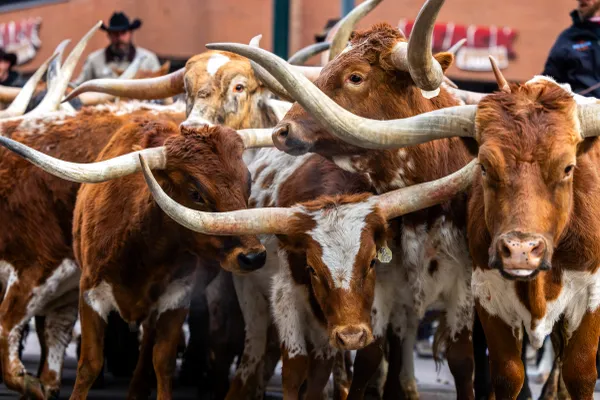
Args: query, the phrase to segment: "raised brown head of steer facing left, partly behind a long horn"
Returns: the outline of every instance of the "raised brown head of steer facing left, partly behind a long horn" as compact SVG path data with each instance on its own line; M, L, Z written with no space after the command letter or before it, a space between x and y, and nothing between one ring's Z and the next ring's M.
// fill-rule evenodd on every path
M407 65L402 64L404 61L394 62L394 49L406 45L404 35L387 23L357 32L346 50L323 67L314 84L344 109L379 120L404 118L456 105L456 100L445 90L430 100L423 97ZM433 57L443 71L453 61L450 53ZM365 151L332 135L299 103L294 103L275 127L273 142L278 149L291 154L316 152L335 156Z

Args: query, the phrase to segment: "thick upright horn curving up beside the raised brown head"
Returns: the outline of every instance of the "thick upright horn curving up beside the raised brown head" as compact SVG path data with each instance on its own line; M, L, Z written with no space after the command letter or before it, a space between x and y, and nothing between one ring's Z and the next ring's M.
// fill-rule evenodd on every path
M413 25L408 39L408 70L415 84L424 91L437 91L444 78L442 66L431 52L431 37L444 0L428 0Z

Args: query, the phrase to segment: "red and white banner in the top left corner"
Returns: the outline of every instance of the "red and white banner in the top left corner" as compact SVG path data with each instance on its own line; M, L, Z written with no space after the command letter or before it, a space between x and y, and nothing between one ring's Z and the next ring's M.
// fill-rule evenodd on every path
M31 61L42 45L39 32L41 18L28 18L0 24L0 48L17 55L17 64Z

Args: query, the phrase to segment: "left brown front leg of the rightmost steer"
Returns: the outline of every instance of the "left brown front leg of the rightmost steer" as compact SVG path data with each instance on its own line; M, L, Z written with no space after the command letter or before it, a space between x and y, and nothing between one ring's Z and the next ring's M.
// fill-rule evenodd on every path
M512 327L500 318L489 315L478 302L477 313L487 338L495 398L514 400L525 379L521 362L521 340L515 337Z

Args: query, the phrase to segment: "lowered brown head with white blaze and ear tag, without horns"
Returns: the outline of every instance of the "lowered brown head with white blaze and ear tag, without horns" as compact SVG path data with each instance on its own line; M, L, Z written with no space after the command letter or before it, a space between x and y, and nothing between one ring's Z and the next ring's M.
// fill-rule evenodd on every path
M325 197L299 208L279 236L292 277L308 285L331 345L360 349L373 341L375 267L386 246L386 219L368 195Z

